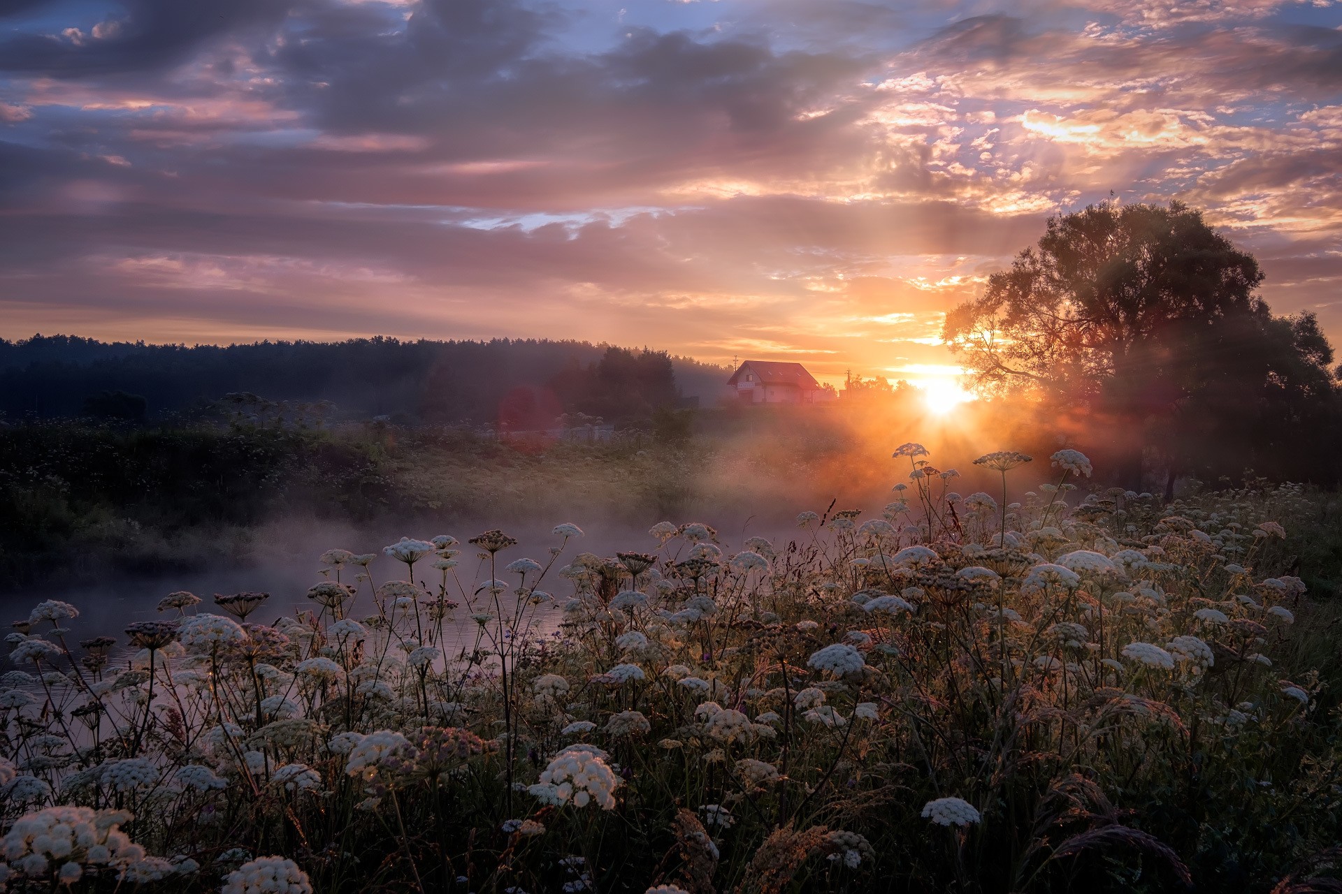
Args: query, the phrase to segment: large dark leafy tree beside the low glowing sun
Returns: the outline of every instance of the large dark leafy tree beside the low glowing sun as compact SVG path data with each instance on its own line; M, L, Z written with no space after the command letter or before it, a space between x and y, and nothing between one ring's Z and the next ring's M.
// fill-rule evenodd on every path
M1130 436L1131 484L1143 449L1170 481L1307 466L1283 441L1337 425L1333 348L1312 315L1274 316L1261 281L1251 255L1181 202L1102 202L1051 218L946 316L943 338L981 391L1033 393Z

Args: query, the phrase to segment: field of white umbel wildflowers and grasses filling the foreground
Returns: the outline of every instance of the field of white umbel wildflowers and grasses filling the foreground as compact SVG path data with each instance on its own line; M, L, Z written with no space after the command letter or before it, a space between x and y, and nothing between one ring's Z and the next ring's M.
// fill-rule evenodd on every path
M1327 871L1335 649L1291 574L1302 488L1162 505L1087 492L1075 449L1001 450L977 462L993 493L961 496L922 445L895 457L874 517L807 511L778 539L660 523L601 556L562 524L531 559L501 531L405 537L327 551L297 610L178 591L119 641L42 602L0 680L0 889ZM1053 480L1021 492L1031 470Z

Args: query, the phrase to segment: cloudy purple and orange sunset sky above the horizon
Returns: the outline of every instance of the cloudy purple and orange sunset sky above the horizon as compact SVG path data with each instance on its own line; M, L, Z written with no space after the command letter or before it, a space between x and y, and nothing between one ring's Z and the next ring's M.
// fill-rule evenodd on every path
M1180 198L1342 342L1331 0L0 0L0 335L576 338L954 374Z

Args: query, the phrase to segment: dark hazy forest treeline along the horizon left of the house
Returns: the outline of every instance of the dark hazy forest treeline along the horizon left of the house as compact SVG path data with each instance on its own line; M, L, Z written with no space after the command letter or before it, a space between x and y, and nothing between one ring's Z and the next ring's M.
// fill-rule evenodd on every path
M544 428L564 414L607 422L717 401L730 373L663 351L534 339L106 343L71 335L0 339L0 413L162 420L228 394L329 402L333 418Z

